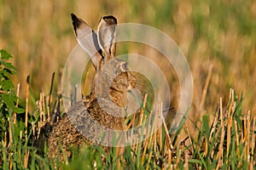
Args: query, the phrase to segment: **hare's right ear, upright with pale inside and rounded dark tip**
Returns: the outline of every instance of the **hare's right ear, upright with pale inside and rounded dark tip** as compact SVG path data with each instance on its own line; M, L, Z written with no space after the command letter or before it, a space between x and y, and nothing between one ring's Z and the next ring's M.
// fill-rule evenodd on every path
M117 20L112 15L102 17L98 26L98 42L105 53L106 59L112 59L116 48Z

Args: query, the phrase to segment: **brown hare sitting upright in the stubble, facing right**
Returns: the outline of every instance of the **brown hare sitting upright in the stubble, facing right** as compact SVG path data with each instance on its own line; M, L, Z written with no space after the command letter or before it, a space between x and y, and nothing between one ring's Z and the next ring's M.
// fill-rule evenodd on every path
M67 157L71 156L71 147L78 147L88 139L97 144L111 145L103 141L106 136L101 132L104 129L125 129L127 94L135 87L136 81L127 63L114 58L117 20L111 15L102 17L96 35L84 20L75 14L71 16L77 40L90 54L95 66L95 83L89 96L75 103L67 114L54 123L47 141L49 157L59 154L59 144ZM106 138L113 138L113 135Z

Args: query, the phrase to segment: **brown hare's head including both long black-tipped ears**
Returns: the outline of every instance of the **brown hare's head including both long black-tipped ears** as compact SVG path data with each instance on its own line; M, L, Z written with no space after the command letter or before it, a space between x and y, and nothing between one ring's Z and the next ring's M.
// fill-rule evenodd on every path
M71 15L79 44L90 54L96 68L92 94L111 99L119 107L128 105L127 92L134 88L135 77L124 60L114 57L117 20L111 15L102 17L96 35L84 20Z

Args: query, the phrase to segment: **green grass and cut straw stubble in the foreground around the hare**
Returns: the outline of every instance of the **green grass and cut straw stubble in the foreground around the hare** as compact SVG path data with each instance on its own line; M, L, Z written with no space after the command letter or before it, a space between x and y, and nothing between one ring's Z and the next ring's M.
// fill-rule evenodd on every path
M29 78L26 84L27 103ZM64 160L61 156L56 156L55 159L47 157L44 135L49 132L45 132L44 125L52 122L53 117L60 114L61 110L60 107L51 105L58 103L60 98L57 101L52 100L52 103L45 99L42 92L32 117L28 117L27 107L23 113L24 120L19 121L13 113L9 116L9 130L4 132L0 148L0 165L3 169L253 169L256 167L256 116L251 111L243 112L244 98L238 97L234 89L230 89L228 103L224 104L223 99L220 98L218 110L202 116L201 126L196 127L196 132L184 124L186 137L183 140L180 136L181 131L170 137L169 133L166 133L167 127L164 122L163 127L148 139L125 147L125 152L121 156L116 156L116 148L106 152L102 146L85 144L80 149L73 148L72 157L68 159L64 155ZM145 96L144 108L146 100ZM49 111L52 116L49 116ZM143 122L145 116L148 114L143 114L142 109L138 115L141 119L137 122L138 125ZM213 121L211 116L214 117ZM154 119L154 121L159 120ZM37 142L39 138L44 141L41 145ZM61 150L61 144L59 149Z

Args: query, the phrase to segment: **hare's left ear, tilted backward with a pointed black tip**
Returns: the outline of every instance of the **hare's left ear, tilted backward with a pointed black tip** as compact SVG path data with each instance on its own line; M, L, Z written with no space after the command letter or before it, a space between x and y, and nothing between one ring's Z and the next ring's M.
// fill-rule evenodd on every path
M80 46L90 54L90 59L99 68L102 60L101 48L97 42L96 33L88 26L84 20L79 19L75 14L71 14L73 20L73 30L75 31Z

